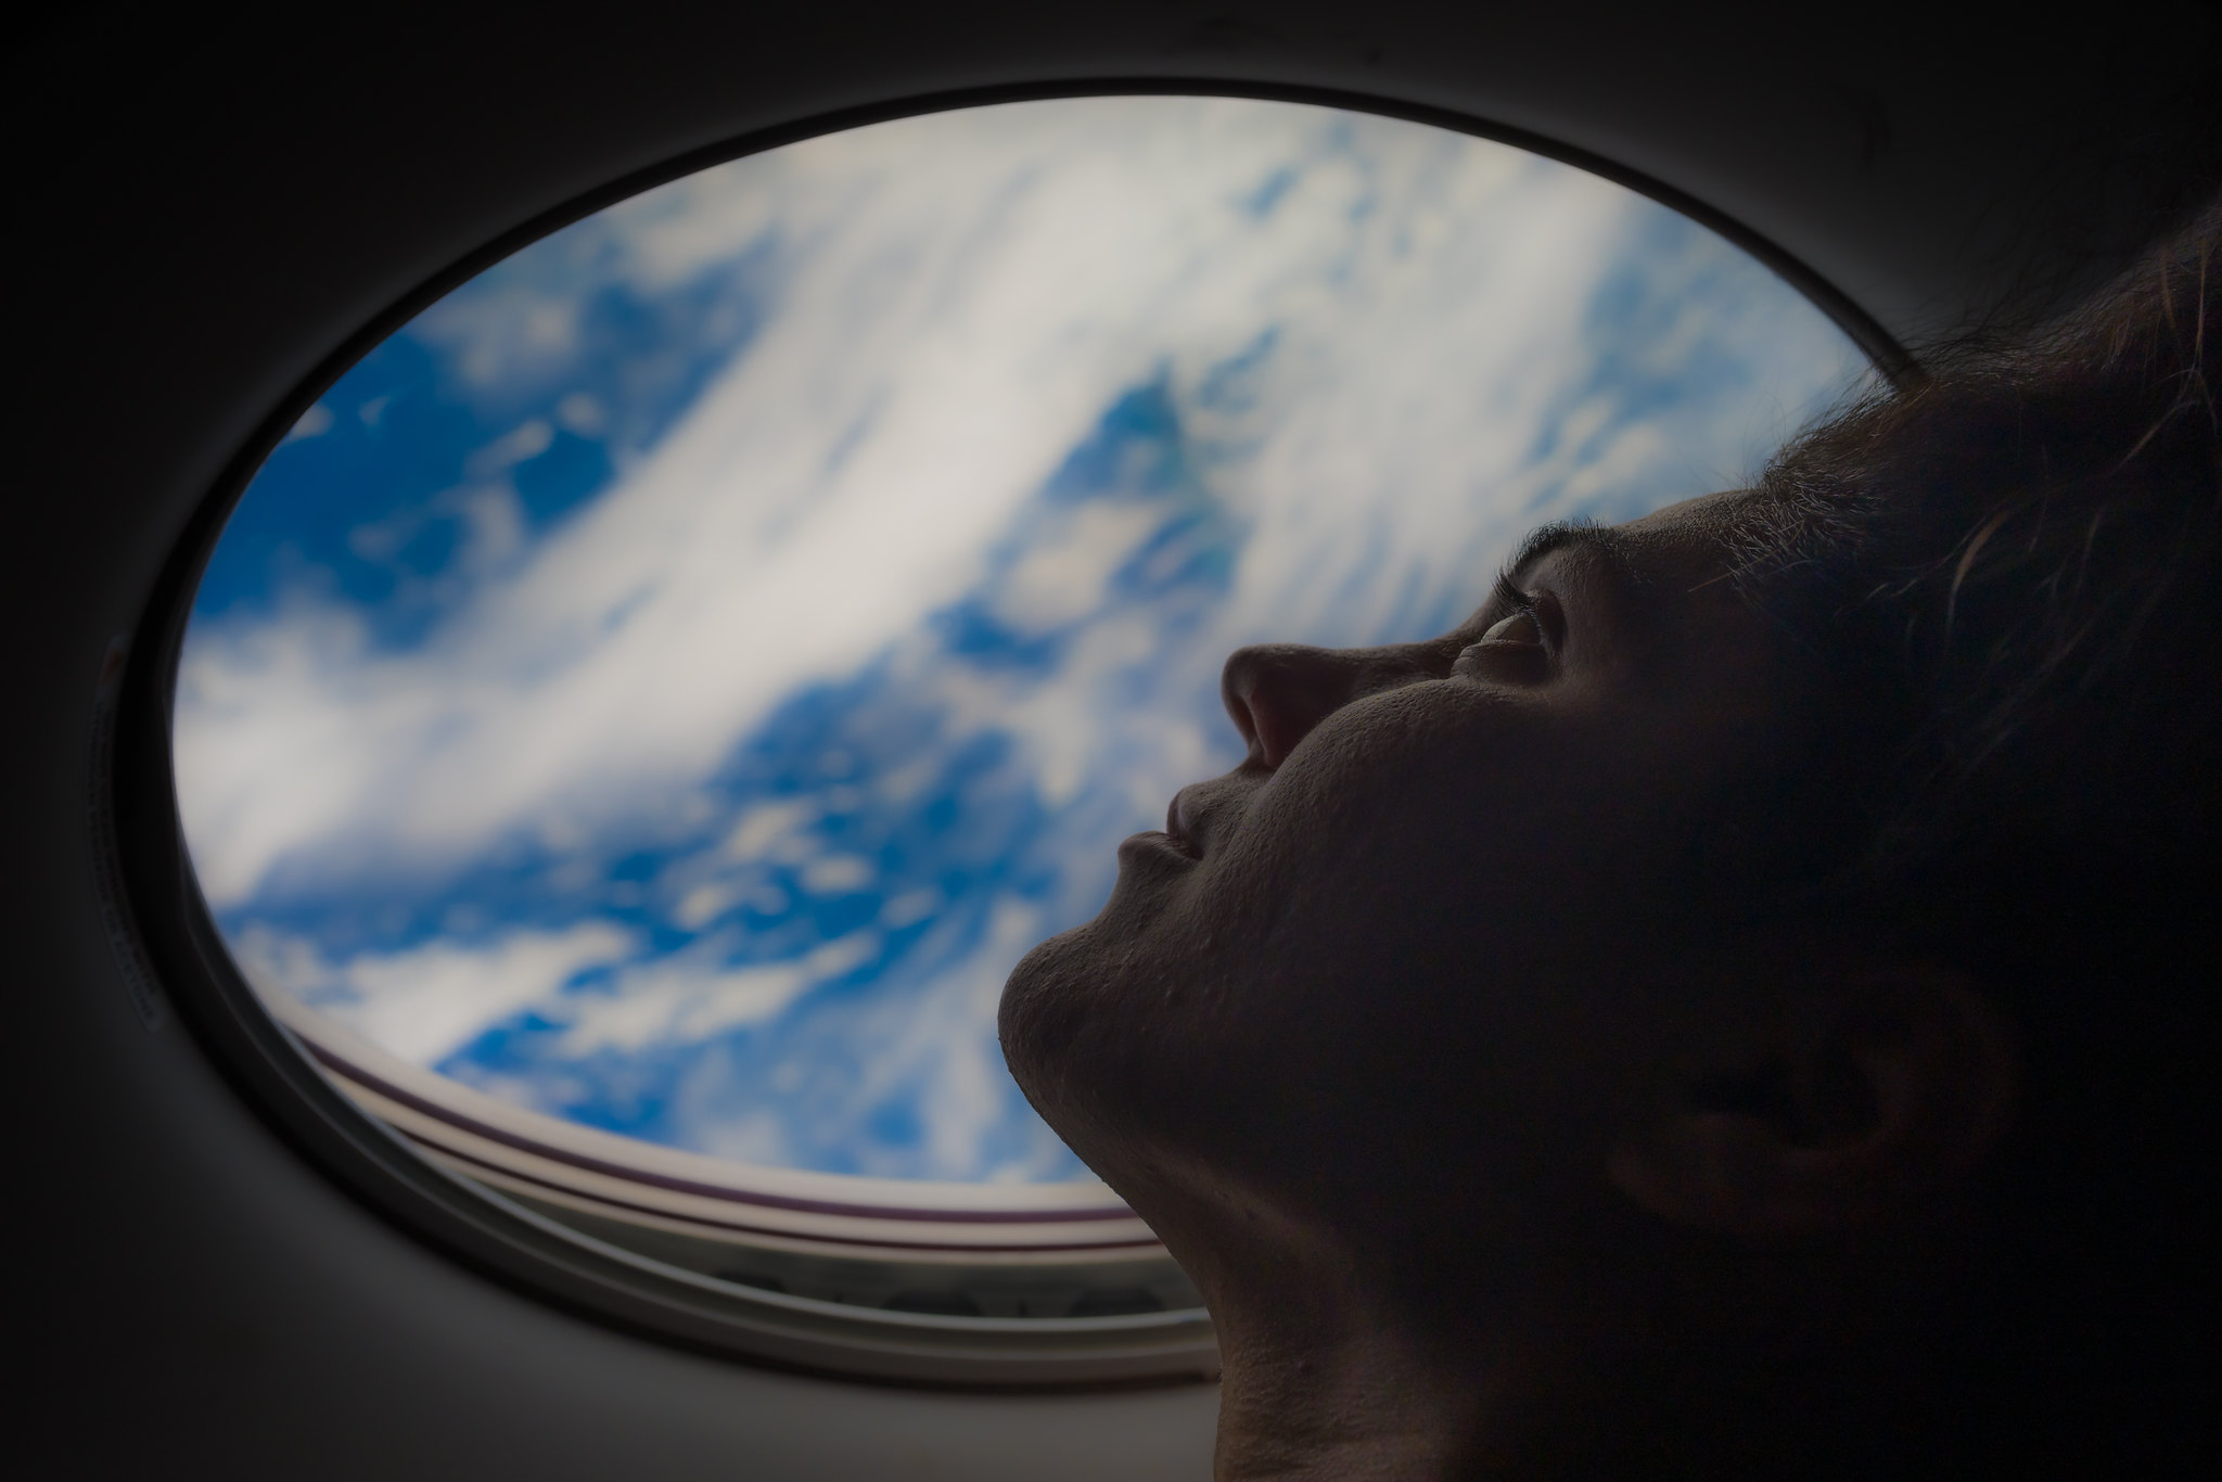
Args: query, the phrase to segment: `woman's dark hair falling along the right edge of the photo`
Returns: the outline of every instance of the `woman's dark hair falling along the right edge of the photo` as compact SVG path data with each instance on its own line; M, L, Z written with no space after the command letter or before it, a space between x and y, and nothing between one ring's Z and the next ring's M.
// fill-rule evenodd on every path
M1806 904L1973 975L2022 1038L1978 1338L2115 1462L2213 1424L2218 360L2222 202L2071 316L1802 435L1740 531L1746 600L1862 758Z

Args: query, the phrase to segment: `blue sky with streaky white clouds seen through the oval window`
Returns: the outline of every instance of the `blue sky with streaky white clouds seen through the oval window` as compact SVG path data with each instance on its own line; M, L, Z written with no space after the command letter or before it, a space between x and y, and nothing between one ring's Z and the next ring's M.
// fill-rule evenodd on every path
M249 978L493 1095L831 1173L1084 1171L1011 962L1238 751L1242 642L1471 607L1740 482L1853 347L1711 233L1418 124L1004 104L498 264L271 455L178 775Z

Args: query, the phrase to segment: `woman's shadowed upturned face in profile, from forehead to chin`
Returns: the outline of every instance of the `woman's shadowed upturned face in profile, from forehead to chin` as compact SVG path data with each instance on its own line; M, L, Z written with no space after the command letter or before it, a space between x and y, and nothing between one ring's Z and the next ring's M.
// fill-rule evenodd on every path
M1153 1189L1473 1220L1602 1169L1831 744L1724 580L1749 498L1542 531L1429 642L1229 660L1249 758L1002 1002L1029 1098L1169 1240Z

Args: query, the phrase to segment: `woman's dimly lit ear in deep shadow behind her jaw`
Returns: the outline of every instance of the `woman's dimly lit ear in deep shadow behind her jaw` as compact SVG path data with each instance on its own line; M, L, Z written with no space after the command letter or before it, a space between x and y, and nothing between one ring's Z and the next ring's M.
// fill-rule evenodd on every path
M1862 969L1764 1013L1758 1060L1744 1024L1742 1062L1684 1075L1613 1149L1609 1175L1642 1209L1749 1240L1818 1235L1951 1182L2006 1131L2011 1040L1953 973Z

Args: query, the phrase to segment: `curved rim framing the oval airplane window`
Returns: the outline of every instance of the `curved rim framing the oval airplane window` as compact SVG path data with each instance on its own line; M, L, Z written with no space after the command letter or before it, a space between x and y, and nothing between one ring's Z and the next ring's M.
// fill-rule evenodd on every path
M831 1302L780 1291L738 1291L727 1282L698 1278L598 1242L538 1213L529 1202L502 1198L487 1184L456 1178L420 1151L422 1140L413 1144L327 1078L327 1073L338 1073L358 1087L364 1087L367 1078L371 1082L367 1089L389 1104L396 1098L387 1093L402 1093L398 1104L407 1109L416 1098L409 1095L409 1084L398 1082L407 1082L413 1067L378 1062L369 1047L342 1044L329 1033L329 1027L302 1022L300 1029L311 1029L311 1040L284 1022L293 1015L280 1018L280 1011L264 1004L247 984L193 875L171 764L171 715L191 598L231 509L300 415L358 360L418 313L496 262L562 227L729 160L927 113L1107 96L1211 96L1347 109L1482 138L1569 164L1647 196L1718 233L1835 322L1893 384L1918 378L1911 353L1835 284L1742 222L1655 178L1587 149L1469 113L1375 93L1278 87L1240 78L1058 80L929 93L818 113L673 156L584 191L496 236L364 322L304 375L240 444L193 511L153 587L140 627L129 640L129 660L116 689L113 715L96 718L96 740L113 733L113 747L96 749L96 767L89 778L96 849L102 853L98 869L104 882L113 882L113 898L107 904L116 911L116 924L122 933L118 949L138 958L124 971L142 971L158 984L164 998L178 1007L178 1018L260 1118L387 1222L527 1295L553 1300L573 1313L631 1333L755 1364L935 1389L1100 1389L1218 1375L1218 1349L1202 1309L1082 1320L938 1318L840 1309ZM349 1071L353 1073L349 1075ZM424 1071L416 1071L416 1075L440 1080ZM456 1111L453 1091L442 1087L436 1100L447 1113ZM482 1111L491 1111L491 1107L489 1102ZM420 1107L418 1111L429 1109ZM511 1115L556 1124L553 1118L536 1118L533 1113ZM453 1115L447 1120L453 1124ZM493 1113L491 1120L504 1122L500 1113ZM484 1133L487 1129L476 1131ZM547 1133L547 1126L533 1131ZM575 1164L604 1162L595 1158L598 1151L609 1151L600 1146L602 1140L631 1142L589 1129L569 1129L558 1138L573 1153ZM529 1151L547 1153L549 1149ZM673 1166L684 1164L695 1173L702 1171L695 1164L715 1162L687 1153L671 1153L667 1160L664 1153L664 1149L653 1149L649 1155L660 1171L669 1160L678 1160ZM638 1169L640 1158L627 1158L627 1162ZM895 1180L842 1180L840 1175L793 1175L793 1180L789 1202L838 1206L811 1211L820 1218L835 1222L853 1218L869 1193L875 1206L864 1211L867 1220L893 1213L913 1233L933 1229L935 1240L929 1244L940 1246L962 1244L949 1240L951 1224L982 1231L980 1222L964 1220L962 1209L973 1213L1002 1209L1000 1215L989 1213L984 1224L989 1229L1013 1222L1027 1226L1031 1238L1018 1240L1020 1249L1055 1244L1055 1238L1044 1235L1044 1231L1064 1226L1071 1233L1084 1231L1080 1244L1102 1253L1140 1246L1153 1246L1162 1253L1162 1246L1155 1246L1147 1226L1131 1211L1102 1206L1100 1193L1075 1200L1044 1198L1042 1189L1031 1189L1013 1200L982 1191L980 1202L964 1198L960 1209L949 1209L947 1202L938 1204L931 1198L900 1198L884 1186ZM687 1180L678 1178L678 1182ZM787 1180L780 1184L784 1189ZM947 1186L940 1189L947 1193ZM691 1193L700 1195L702 1191ZM767 1209L764 1193L762 1186L740 1191L740 1202L753 1204L751 1213L760 1218ZM900 1209L889 1209L891 1193ZM769 1200L769 1204L778 1206L780 1198ZM771 1213L791 1215L793 1211L773 1209ZM1018 1231L995 1229L991 1244L1013 1249L1009 1240L1013 1233Z

